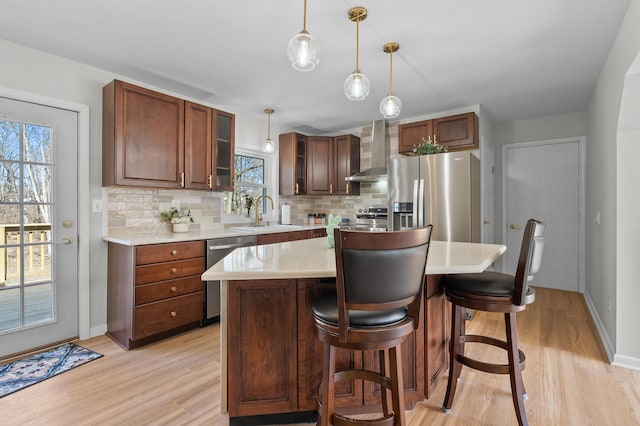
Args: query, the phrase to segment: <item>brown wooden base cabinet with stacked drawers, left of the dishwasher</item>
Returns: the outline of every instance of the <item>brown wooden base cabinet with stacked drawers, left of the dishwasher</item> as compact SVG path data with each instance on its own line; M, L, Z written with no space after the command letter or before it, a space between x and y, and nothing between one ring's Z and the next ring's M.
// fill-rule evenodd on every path
M198 326L204 316L204 242L109 243L107 335L125 349Z

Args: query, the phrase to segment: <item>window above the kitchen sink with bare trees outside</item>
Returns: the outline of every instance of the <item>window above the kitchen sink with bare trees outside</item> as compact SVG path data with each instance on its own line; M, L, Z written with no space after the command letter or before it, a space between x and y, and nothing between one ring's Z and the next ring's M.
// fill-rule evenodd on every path
M233 192L224 194L225 215L246 215L255 213L254 203L261 195L267 194L267 179L265 158L258 154L234 156L234 187ZM265 199L261 200L259 208L265 212Z

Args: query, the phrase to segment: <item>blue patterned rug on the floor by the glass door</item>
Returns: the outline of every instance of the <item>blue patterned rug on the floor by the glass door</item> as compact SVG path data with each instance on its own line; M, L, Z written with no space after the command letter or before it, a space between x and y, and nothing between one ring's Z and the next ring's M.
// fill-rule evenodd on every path
M0 365L0 398L100 358L102 354L73 343Z

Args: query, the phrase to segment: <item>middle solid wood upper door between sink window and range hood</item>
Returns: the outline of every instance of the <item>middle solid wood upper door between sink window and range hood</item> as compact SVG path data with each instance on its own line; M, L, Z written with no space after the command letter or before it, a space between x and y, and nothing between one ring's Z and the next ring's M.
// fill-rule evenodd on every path
M334 173L333 138L307 137L307 194L330 195Z

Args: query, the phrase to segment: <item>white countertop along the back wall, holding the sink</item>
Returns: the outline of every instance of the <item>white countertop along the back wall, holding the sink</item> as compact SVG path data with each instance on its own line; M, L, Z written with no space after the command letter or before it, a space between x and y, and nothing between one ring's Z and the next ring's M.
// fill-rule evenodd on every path
M240 226L241 228L252 228L250 226ZM276 225L273 228L269 225L253 227L250 230L234 230L233 228L218 228L196 230L191 232L161 232L157 229L150 230L142 234L107 235L103 236L104 241L122 244L125 246L142 246L146 244L177 243L181 241L209 240L213 238L238 237L243 235L273 234L277 232L294 232L308 229L325 228L323 225Z

